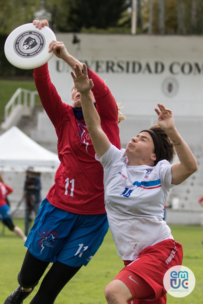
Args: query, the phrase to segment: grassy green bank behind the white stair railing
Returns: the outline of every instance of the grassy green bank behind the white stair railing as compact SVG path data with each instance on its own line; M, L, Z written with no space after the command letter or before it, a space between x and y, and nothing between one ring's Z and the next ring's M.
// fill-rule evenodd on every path
M4 117L5 105L9 102L12 95L18 88L36 91L35 83L33 81L19 81L19 80L0 80L0 119ZM41 105L40 99L36 96L36 105Z

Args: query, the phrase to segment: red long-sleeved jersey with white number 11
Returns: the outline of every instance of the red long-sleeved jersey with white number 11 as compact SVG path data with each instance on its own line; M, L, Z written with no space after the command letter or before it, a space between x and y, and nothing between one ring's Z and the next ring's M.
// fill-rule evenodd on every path
M120 149L118 108L104 81L89 69L92 92L101 126L110 142ZM58 136L61 162L48 201L63 210L79 214L106 213L104 207L103 167L95 159L95 150L84 119L76 119L73 107L61 101L51 83L47 64L34 69L37 91Z

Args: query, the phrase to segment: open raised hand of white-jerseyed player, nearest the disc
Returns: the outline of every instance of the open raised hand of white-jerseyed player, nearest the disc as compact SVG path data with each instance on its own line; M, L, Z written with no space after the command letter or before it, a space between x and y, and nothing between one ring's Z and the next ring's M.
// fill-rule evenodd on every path
M73 78L76 89L80 93L87 93L91 90L91 88L93 88L94 84L92 79L88 78L86 64L83 63L82 66L83 66L83 74L79 64L75 64L74 67L75 74L71 71L71 76Z

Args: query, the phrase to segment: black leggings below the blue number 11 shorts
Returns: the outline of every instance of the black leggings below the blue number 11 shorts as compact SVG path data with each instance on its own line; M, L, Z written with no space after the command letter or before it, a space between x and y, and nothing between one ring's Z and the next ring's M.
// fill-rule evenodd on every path
M19 284L24 288L36 286L48 264L49 262L33 257L28 249L18 275ZM71 267L58 261L53 263L30 304L53 304L61 289L80 268L81 266Z

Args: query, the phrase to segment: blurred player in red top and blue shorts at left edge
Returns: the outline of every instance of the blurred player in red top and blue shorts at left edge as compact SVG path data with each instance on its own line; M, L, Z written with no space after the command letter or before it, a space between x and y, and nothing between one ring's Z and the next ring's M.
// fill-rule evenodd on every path
M9 230L16 233L17 236L21 237L24 242L26 241L26 235L23 231L14 225L11 219L11 210L8 205L6 196L13 192L13 189L5 184L2 174L0 173L0 219L2 223L9 228Z

